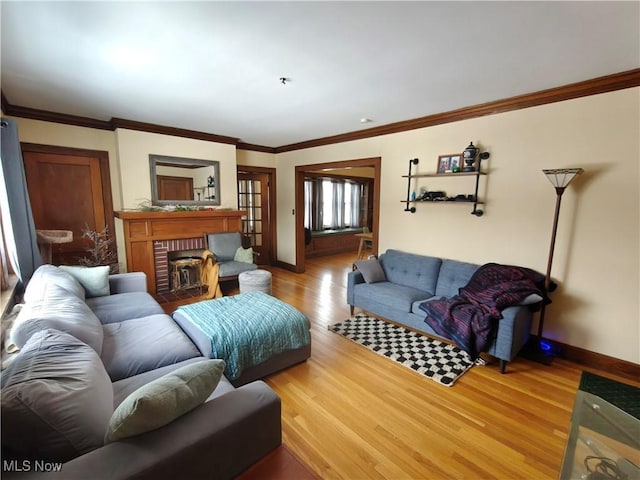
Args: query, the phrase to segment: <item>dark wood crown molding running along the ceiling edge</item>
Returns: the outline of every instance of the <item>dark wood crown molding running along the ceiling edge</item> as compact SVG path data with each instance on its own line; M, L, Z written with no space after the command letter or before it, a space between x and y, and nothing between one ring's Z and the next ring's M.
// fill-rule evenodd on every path
M97 128L101 130L115 130L117 128L126 128L129 130L138 130L149 133L159 133L162 135L171 135L176 137L193 138L196 140L204 140L209 142L226 143L235 145L240 150L251 150L263 153L283 153L293 150L302 150L305 148L319 147L334 143L349 142L353 140L362 140L365 138L377 137L380 135L389 135L392 133L406 132L418 128L432 127L445 123L458 122L471 118L483 117L486 115L495 115L498 113L520 110L523 108L546 105L554 102L562 102L574 98L586 97L589 95L597 95L600 93L613 92L640 86L640 68L628 70L626 72L606 75L591 80L572 83L562 87L549 88L534 93L510 97L494 102L482 103L470 107L451 110L425 117L415 118L412 120L404 120L401 122L381 125L379 127L357 130L354 132L332 135L329 137L316 138L299 143L292 143L280 147L268 147L264 145L255 145L251 143L241 142L235 137L224 135L216 135L213 133L199 132L195 130L186 130L182 128L167 127L156 125L153 123L144 123L123 118L112 118L111 120L96 120L88 117L80 117L76 115L67 115L63 113L39 110L36 108L20 107L9 103L4 92L1 92L2 111L5 115L14 117L30 118L33 120L42 120L45 122L63 123L66 125L75 125L79 127Z

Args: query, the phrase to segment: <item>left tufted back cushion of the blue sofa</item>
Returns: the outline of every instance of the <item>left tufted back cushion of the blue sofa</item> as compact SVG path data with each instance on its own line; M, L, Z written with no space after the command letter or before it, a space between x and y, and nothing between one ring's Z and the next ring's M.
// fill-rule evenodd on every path
M399 250L387 250L380 256L380 264L389 282L423 290L428 296L436 290L441 263L439 258Z

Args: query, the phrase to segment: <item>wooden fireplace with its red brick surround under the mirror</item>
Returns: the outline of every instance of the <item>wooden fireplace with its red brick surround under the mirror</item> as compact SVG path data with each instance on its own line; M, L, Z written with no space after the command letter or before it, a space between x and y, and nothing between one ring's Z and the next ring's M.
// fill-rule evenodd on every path
M127 271L144 272L150 293L171 290L169 253L206 248L205 233L241 232L242 210L197 212L116 212L123 222Z

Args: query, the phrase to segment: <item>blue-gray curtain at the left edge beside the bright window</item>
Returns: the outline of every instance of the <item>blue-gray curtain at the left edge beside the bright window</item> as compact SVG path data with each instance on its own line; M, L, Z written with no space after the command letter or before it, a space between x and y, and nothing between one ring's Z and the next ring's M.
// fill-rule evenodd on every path
M14 120L3 118L0 122L1 165L0 208L2 227L7 241L9 260L23 284L42 264L36 227L31 212L27 180L18 139L18 127Z

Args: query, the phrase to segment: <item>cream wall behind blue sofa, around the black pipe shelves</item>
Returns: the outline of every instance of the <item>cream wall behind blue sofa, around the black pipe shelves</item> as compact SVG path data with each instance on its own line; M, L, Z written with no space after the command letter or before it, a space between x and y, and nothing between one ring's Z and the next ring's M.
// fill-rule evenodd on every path
M640 88L336 145L278 154L278 259L295 263L297 165L382 157L380 252L395 248L544 273L555 190L543 168L582 167L560 213L546 337L640 363ZM468 204L403 212L408 161L435 171L438 155L469 141L491 153L481 180L485 215ZM429 190L472 193L472 177L420 179Z

